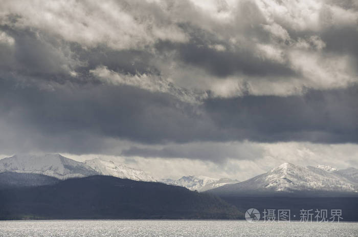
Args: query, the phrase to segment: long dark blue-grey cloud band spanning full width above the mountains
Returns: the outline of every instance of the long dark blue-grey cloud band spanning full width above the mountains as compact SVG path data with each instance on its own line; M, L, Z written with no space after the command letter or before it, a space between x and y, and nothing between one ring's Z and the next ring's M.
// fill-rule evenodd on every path
M76 154L107 148L104 142L101 144L101 138L146 144L242 140L358 142L356 85L308 91L303 96L211 98L193 105L166 93L124 85L57 84L51 89L39 89L23 87L11 79L1 79L1 83L1 122L12 128L9 138L13 138L13 148L18 146L17 139L29 140L36 148L52 141L50 146L60 152L71 150ZM36 141L33 136L37 135L49 141ZM135 154L133 151L136 150L127 150L127 155ZM170 149L145 151L169 157L180 154ZM143 150L137 152L143 155ZM195 155L195 149L191 152L194 157L200 156Z

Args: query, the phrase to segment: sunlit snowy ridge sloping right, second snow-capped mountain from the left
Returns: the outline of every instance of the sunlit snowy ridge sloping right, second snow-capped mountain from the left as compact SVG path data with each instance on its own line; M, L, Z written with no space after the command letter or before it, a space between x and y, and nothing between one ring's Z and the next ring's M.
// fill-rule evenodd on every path
M96 158L93 160L87 160L84 164L96 170L100 175L108 175L137 181L156 182L153 177L146 174L143 170L130 168L114 161L106 161Z

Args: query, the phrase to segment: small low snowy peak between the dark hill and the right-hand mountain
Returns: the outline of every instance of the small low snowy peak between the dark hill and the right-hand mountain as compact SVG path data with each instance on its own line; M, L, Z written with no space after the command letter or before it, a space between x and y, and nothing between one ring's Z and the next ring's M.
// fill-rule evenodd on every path
M183 186L189 190L206 191L212 188L220 187L226 184L238 183L238 180L231 179L217 179L206 176L183 176L177 180L163 179L163 183L172 184L176 186Z

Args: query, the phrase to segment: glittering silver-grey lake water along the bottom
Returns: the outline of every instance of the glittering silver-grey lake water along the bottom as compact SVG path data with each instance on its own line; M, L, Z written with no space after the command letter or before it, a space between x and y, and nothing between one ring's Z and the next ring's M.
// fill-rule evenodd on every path
M2 221L0 236L358 236L358 223Z

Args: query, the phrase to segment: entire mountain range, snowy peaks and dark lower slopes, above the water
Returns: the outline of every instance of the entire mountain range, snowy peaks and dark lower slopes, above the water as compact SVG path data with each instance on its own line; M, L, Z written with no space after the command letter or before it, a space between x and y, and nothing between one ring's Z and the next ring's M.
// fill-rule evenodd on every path
M1 220L242 219L254 207L297 213L336 208L345 221L358 221L357 197L356 168L284 163L243 182L206 176L158 182L143 170L102 159L15 155L0 160Z

